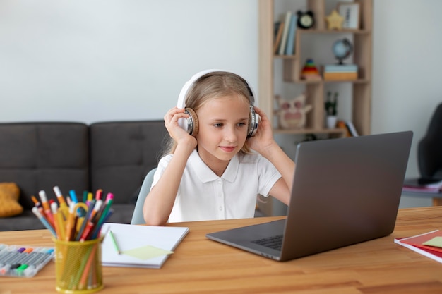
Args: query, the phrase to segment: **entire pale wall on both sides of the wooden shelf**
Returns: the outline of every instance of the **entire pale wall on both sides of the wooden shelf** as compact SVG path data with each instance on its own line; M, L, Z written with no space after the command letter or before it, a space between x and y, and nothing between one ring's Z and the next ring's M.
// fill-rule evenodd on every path
M227 68L257 90L256 0L1 0L0 122L162 118L184 82ZM442 1L374 0L372 133L413 130L442 102ZM430 200L403 197L401 207Z

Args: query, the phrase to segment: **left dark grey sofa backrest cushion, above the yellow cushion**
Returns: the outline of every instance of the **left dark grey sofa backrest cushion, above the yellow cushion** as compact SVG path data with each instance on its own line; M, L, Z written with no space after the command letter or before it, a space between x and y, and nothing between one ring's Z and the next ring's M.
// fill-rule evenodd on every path
M84 123L1 123L0 181L17 183L20 204L32 209L30 196L52 187L62 192L89 189L89 130Z

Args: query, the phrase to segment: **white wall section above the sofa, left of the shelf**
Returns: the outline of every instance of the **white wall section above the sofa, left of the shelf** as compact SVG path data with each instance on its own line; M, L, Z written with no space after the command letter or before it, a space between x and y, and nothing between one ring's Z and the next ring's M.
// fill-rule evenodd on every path
M162 118L193 73L256 85L256 0L1 0L0 121Z

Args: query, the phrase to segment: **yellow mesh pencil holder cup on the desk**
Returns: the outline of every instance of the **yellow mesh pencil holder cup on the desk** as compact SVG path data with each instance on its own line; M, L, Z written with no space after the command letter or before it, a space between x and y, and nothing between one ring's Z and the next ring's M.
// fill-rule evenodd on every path
M55 242L55 278L59 293L92 293L101 290L103 238Z

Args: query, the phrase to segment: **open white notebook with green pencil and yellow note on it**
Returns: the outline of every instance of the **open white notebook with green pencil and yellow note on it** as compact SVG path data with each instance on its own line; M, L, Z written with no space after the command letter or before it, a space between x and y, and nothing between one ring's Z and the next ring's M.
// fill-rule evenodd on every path
M120 254L109 231L114 235ZM160 269L189 228L104 223L102 232L106 233L102 243L103 266Z

